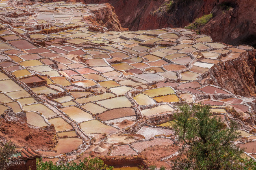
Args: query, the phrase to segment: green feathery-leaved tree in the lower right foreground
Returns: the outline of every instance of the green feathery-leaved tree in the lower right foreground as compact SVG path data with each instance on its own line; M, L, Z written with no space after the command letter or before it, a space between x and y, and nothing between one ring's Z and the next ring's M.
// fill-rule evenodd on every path
M226 128L220 117L212 116L210 106L180 106L174 122L178 140L183 143L180 156L173 161L174 169L230 170L244 169L245 162L247 168L255 165L253 160L243 159L243 149L232 142L239 136L236 124L231 121Z

